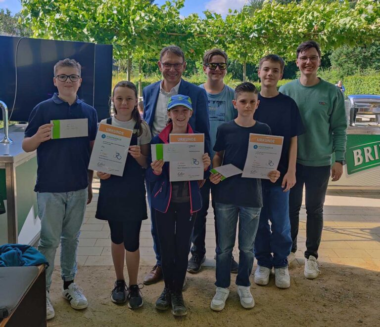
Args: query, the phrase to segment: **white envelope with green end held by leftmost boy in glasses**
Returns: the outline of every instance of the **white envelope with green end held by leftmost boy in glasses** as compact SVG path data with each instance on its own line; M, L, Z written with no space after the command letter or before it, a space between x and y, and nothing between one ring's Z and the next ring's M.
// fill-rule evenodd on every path
M50 123L54 125L51 127L52 139L89 136L87 118L54 120Z

